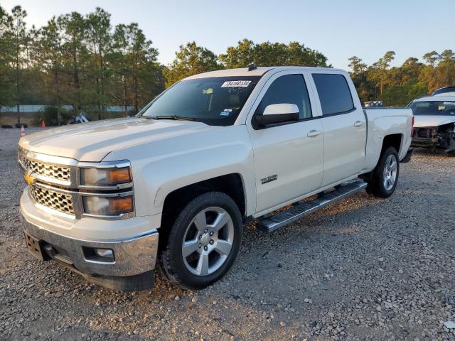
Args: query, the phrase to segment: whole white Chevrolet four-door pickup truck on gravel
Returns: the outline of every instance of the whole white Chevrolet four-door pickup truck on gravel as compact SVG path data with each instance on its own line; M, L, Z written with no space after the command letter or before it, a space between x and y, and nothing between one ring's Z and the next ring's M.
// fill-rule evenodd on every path
M152 286L156 261L178 286L204 288L253 219L270 232L363 188L390 196L412 121L410 109L362 109L343 70L188 77L136 118L21 138L28 250L116 290Z

